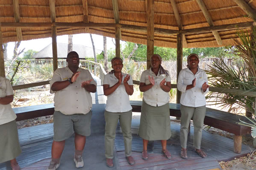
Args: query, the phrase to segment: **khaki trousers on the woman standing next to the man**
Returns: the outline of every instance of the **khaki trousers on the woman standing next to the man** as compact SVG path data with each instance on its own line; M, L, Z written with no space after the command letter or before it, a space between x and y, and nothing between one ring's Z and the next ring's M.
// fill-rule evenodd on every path
M105 111L104 113L105 127L105 156L108 159L114 158L113 147L115 142L115 130L118 124L118 119L124 136L125 156L132 155L132 110L128 112L112 113Z

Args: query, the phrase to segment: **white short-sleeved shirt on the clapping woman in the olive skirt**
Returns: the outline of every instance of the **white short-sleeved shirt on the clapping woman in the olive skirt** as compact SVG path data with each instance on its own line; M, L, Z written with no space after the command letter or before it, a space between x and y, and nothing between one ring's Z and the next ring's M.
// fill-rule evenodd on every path
M148 105L155 106L155 107L156 105L162 106L162 105L165 105L166 103L169 103L169 99L170 99L169 93L162 90L162 88L160 87L160 82L162 82L163 79L165 79L166 82L171 82L170 74L168 76L166 74L160 75L158 71L158 74L156 76L156 74L154 74L151 68L149 68L142 72L140 82L144 82L146 85L149 85L150 81L148 79L148 76L150 77L153 76L155 80L155 85L153 85L153 87L150 88L149 90L144 91L143 93L144 102L146 102Z

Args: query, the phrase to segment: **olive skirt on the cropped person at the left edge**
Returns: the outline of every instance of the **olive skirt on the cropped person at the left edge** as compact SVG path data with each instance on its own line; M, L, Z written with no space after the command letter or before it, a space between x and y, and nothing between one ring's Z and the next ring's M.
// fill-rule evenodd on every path
M21 154L16 121L0 125L0 134L0 163L3 163Z

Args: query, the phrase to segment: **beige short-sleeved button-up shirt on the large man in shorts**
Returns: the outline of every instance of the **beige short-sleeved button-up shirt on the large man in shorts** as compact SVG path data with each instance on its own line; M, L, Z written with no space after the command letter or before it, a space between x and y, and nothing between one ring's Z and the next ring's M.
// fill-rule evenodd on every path
M86 114L92 108L92 100L90 92L82 88L82 82L92 79L91 84L97 86L97 83L91 76L88 70L78 68L80 71L77 80L72 84L68 85L66 88L60 91L52 91L50 93L55 93L54 95L54 107L55 111L60 111L65 115L72 114ZM50 88L54 82L65 81L71 78L73 72L67 67L58 68L54 71L53 78L50 80Z

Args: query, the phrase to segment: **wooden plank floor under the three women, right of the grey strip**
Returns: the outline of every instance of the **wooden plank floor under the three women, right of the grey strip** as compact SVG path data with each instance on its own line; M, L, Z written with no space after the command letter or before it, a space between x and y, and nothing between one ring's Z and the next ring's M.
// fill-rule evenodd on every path
M168 140L167 149L172 154L172 159L168 160L161 154L161 142L154 142L154 149L149 152L149 160L141 159L141 151L143 149L142 139L137 135L139 127L139 119L132 119L132 156L135 159L135 165L130 166L124 153L124 141L121 134L121 127L118 124L116 129L115 147L118 152L119 164L121 170L209 170L221 167L218 161L231 160L234 157L244 156L249 153L250 147L242 145L242 152L236 154L233 152L233 140L223 136L211 134L203 130L203 138L201 148L206 151L208 157L202 159L194 152L193 133L194 128L191 127L191 133L188 135L188 156L187 160L180 158L180 142L179 142L179 124L171 124L172 136Z

